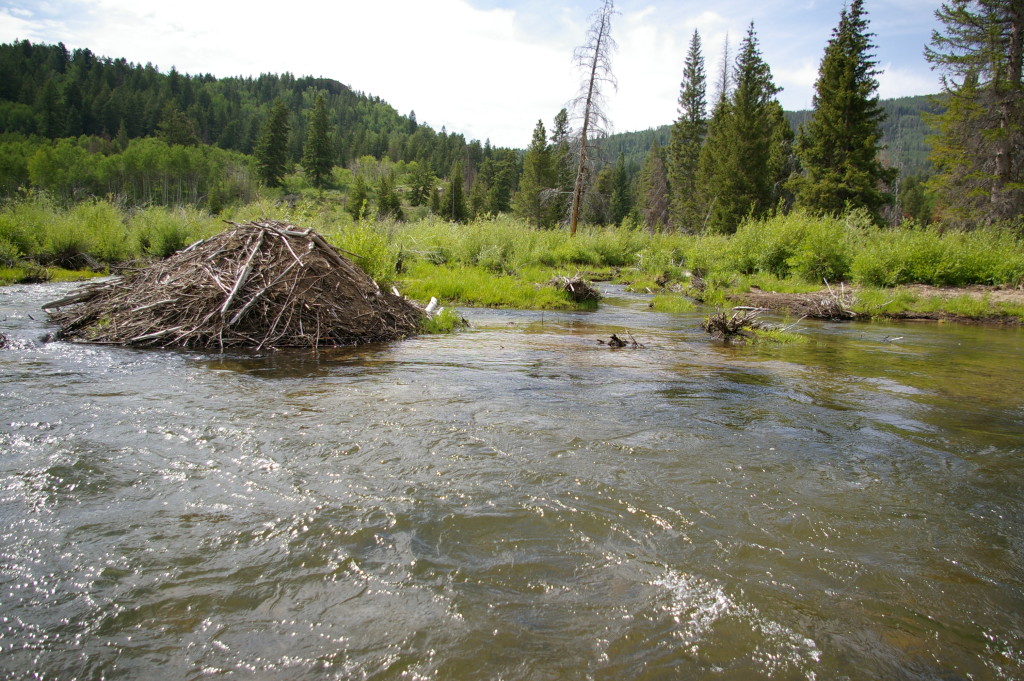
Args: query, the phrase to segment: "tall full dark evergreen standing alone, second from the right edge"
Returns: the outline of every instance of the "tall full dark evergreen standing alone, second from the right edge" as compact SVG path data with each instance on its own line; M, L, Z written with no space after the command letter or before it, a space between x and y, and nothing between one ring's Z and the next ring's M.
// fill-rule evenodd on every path
M881 222L881 209L892 199L886 183L895 172L879 160L885 113L870 38L863 0L853 0L825 47L814 111L797 140L802 172L791 187L797 204L812 212L838 215L864 208Z

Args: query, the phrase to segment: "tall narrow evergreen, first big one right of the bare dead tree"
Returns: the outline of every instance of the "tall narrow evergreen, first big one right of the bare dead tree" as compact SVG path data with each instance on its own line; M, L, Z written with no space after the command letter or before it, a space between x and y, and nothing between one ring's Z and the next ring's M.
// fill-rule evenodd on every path
M695 231L701 218L696 177L700 146L708 134L707 80L700 34L694 31L683 65L679 119L672 126L668 164L672 224L686 231Z

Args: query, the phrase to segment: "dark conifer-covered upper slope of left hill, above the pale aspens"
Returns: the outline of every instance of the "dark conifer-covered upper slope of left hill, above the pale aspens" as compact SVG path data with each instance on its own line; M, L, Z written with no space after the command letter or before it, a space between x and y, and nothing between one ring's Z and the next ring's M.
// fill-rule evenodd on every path
M446 173L463 152L460 134L440 133L398 114L387 102L336 80L285 73L214 78L161 73L152 63L100 57L88 49L23 41L0 45L0 131L43 137L163 136L251 154L270 104L283 97L291 113L291 155L298 161L306 117L316 92L328 95L340 134L339 165L360 156L428 162ZM183 115L183 117L182 117Z

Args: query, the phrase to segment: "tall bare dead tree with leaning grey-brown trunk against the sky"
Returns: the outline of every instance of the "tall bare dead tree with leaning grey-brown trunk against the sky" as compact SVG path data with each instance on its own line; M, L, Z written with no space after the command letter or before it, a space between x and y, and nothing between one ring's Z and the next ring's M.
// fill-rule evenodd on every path
M577 67L586 74L586 79L580 87L580 94L572 100L572 111L581 119L579 137L577 139L577 177L572 189L572 208L569 214L569 233L577 232L580 221L580 206L587 180L587 161L591 140L607 134L608 118L604 113L603 88L618 87L611 73L611 53L615 49L615 41L611 37L611 15L615 13L612 0L604 0L604 4L594 12L590 30L587 32L587 42L575 48L572 59Z

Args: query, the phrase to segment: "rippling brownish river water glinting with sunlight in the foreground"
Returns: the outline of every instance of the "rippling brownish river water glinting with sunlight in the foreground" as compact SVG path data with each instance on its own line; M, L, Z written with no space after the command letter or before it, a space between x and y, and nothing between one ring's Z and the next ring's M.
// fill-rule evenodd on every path
M3 678L1024 678L1020 330L38 342L68 289L0 289Z

